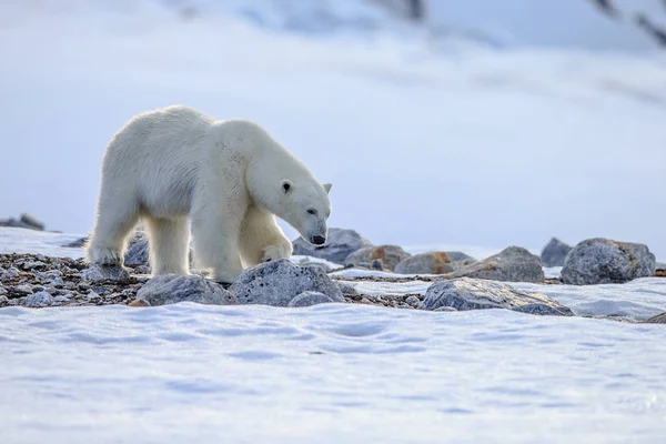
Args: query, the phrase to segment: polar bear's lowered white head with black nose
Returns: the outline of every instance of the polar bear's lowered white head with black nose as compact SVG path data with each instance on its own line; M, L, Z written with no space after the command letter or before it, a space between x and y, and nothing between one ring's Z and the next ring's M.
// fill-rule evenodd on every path
M329 235L326 221L331 216L331 186L330 183L283 179L275 215L296 229L307 242L323 245Z

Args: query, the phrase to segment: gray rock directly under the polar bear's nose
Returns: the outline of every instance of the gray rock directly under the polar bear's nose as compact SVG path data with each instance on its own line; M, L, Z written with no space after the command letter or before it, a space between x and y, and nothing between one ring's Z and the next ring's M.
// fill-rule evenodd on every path
M329 239L323 245L313 245L303 238L292 241L293 254L325 259L337 264L344 264L344 260L354 251L372 243L354 230L329 229Z

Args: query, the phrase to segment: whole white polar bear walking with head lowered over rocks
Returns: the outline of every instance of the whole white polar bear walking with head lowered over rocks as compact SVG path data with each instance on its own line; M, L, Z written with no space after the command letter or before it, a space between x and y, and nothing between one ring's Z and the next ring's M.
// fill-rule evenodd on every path
M291 256L275 216L324 244L331 186L255 122L184 105L143 112L107 147L85 258L122 266L142 220L153 275L189 274L191 234L196 266L233 282L243 266Z

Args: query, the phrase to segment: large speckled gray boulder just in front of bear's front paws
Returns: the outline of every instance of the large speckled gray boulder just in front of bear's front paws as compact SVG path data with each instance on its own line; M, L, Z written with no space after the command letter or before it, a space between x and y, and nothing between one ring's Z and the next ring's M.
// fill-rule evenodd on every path
M240 304L287 306L305 291L325 294L333 302L345 302L335 282L320 269L301 266L280 259L246 269L229 287Z

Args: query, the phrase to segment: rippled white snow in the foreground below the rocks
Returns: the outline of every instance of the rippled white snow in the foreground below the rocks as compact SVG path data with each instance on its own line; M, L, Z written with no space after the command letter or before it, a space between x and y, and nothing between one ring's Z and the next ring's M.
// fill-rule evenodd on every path
M4 442L659 442L660 325L502 310L0 310ZM516 426L519 424L519 427Z

